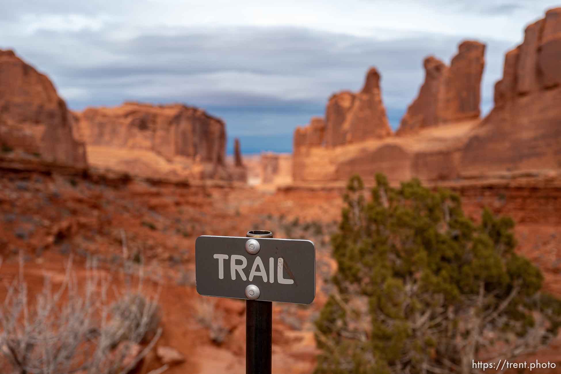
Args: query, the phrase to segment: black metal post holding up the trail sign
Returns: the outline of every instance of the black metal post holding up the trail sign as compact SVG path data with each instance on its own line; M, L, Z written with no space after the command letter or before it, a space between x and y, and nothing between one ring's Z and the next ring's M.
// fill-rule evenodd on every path
M270 231L255 230L250 238L272 238ZM246 300L246 374L270 374L272 369L273 303Z

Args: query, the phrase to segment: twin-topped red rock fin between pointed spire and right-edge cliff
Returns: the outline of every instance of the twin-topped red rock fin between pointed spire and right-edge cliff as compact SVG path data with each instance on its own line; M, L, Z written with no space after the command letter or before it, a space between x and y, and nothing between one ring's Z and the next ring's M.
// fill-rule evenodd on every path
M397 133L479 118L484 54L484 44L463 41L450 67L434 57L425 58L425 82L407 108Z

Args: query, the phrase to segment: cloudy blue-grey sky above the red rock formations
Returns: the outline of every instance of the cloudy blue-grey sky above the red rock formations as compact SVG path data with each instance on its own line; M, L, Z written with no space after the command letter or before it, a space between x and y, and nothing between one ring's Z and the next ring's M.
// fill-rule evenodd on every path
M227 123L229 149L291 151L328 97L381 73L396 128L424 78L464 39L486 43L482 110L504 53L546 0L0 0L0 48L47 73L70 108L125 100L196 105Z

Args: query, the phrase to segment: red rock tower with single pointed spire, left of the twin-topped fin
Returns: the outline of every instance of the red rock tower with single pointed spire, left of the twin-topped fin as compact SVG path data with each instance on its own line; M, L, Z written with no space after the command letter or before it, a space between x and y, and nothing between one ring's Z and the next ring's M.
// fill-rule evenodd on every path
M370 68L362 90L342 91L329 98L325 110L327 147L392 135L381 99L380 75Z

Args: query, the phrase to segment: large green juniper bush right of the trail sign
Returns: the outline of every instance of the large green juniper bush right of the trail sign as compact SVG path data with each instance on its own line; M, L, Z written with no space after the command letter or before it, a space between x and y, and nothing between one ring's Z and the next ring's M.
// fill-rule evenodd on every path
M316 320L316 374L475 373L547 345L561 301L514 252L511 218L467 218L458 195L352 177L332 238L335 292Z

